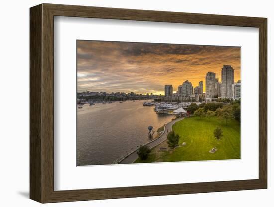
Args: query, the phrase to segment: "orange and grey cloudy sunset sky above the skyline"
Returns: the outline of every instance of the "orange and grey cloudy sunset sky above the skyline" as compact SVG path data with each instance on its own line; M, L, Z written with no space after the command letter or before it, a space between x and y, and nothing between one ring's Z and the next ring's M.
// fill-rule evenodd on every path
M221 68L231 65L240 80L240 47L77 40L78 92L173 93L185 80L193 87L208 71L221 81Z

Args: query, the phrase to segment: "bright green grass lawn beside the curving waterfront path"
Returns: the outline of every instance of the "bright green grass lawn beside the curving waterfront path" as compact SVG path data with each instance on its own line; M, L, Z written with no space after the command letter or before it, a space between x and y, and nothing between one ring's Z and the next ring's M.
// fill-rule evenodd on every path
M223 131L223 137L217 140L213 131L216 127ZM216 117L185 118L173 125L173 130L180 135L180 146L173 151L159 152L152 149L148 159L137 159L135 163L142 162L172 162L195 160L223 160L240 159L240 124L238 121L224 120ZM181 146L186 142L186 146ZM218 150L212 154L209 151L216 147Z

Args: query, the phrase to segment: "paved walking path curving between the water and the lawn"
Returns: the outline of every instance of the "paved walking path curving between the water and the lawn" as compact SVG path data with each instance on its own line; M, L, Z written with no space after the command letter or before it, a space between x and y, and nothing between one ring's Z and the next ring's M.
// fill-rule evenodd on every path
M152 140L151 142L144 144L144 145L148 146L150 149L152 149L153 147L156 147L157 145L159 145L160 143L162 143L163 141L165 141L167 139L167 133L172 131L173 124L178 121L181 121L183 119L184 119L184 117L177 118L177 119L167 123L164 128L164 132L157 139ZM133 163L138 158L137 151L138 151L138 149L136 151L132 152L131 154L129 154L128 156L126 156L124 159L120 160L119 164Z

